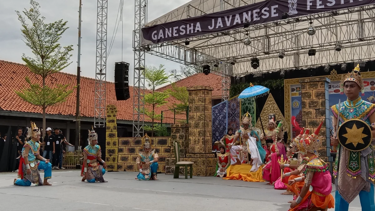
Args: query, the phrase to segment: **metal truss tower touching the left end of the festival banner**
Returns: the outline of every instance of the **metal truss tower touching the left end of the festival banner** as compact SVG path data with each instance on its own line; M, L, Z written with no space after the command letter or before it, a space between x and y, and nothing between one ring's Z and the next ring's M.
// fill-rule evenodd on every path
M144 125L144 67L145 48L141 47L141 28L147 19L147 0L135 0L133 31L134 89L133 89L133 137L143 136Z

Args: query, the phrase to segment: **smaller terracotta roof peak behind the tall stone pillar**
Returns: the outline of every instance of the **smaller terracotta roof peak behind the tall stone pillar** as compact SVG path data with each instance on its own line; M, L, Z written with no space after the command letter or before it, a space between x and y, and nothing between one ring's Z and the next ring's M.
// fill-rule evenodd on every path
M179 81L176 81L175 84L178 87L193 87L193 86L210 86L213 88L212 96L221 96L221 76L210 73L205 75L204 73L196 73L192 76L183 78ZM159 89L156 89L159 92L162 92L167 89L171 89L171 84L163 86ZM229 87L228 87L229 88Z

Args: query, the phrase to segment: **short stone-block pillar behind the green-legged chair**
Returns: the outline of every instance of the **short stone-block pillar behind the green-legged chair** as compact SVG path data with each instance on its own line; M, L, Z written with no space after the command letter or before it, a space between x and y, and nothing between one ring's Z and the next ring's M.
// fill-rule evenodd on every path
M174 155L174 142L177 141L180 148L181 161L188 161L186 158L186 152L189 149L189 124L171 124L171 139L168 146L162 147L162 151L166 151L169 148L170 154L165 160L165 174L174 174L175 155ZM165 148L165 149L164 149ZM180 174L183 175L183 168L180 168Z

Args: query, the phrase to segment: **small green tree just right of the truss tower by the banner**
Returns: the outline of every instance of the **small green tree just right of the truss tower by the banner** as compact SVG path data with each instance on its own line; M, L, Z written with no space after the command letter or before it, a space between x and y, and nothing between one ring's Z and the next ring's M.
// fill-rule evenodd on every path
M146 125L144 126L144 130L150 130L151 136L154 135L155 120L161 119L161 114L156 114L155 108L165 105L168 102L165 99L169 97L167 93L155 92L157 86L168 83L168 75L166 75L163 66L164 65L160 65L159 68L156 68L155 66L146 66L144 70L144 77L148 83L148 87L150 87L152 91L152 93L144 96L145 105L152 108L152 110L149 110L148 108L144 109L144 114L151 119L152 126L149 127Z

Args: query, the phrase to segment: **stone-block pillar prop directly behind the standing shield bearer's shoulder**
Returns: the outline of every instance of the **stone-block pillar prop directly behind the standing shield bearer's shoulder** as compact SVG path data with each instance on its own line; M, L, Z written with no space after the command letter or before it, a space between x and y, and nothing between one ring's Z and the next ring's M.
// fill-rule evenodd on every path
M310 128L310 133L313 133L320 122L324 121L319 132L319 136L323 136L319 153L324 161L332 162L329 141L331 121L328 99L328 84L331 81L326 77L317 77L300 79L299 82L302 91L302 126Z

